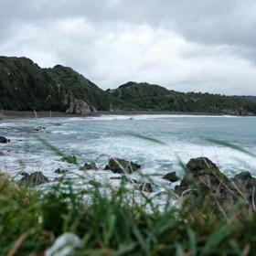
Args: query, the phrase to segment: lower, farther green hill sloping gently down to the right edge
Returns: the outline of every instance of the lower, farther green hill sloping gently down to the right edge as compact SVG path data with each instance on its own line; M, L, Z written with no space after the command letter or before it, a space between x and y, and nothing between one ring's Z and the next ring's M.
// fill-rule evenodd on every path
M256 102L238 96L169 91L158 85L136 82L128 82L108 92L115 110L256 114Z

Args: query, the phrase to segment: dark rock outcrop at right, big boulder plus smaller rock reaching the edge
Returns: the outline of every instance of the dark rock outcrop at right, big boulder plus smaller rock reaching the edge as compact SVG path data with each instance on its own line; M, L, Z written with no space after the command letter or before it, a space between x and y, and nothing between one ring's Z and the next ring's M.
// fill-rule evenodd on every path
M219 205L227 208L238 201L256 204L256 178L249 172L241 172L229 179L206 157L189 160L187 173L176 190L183 195L210 198L218 208Z

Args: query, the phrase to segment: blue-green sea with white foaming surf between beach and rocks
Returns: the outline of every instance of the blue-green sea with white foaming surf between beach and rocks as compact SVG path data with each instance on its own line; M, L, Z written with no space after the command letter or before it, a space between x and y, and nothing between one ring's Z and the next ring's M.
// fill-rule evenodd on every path
M44 129L33 131L37 128ZM210 158L227 176L234 176L241 170L249 170L256 176L256 158L208 142L208 139L224 140L256 154L254 117L102 115L16 119L1 121L0 135L11 139L10 144L0 144L0 151L5 153L0 156L0 169L16 177L23 171L41 171L54 179L59 176L54 174L57 168L85 175L78 170L78 165L62 162L37 136L66 155L77 155L79 165L96 159L100 170L89 171L86 175L113 185L118 181L110 178L118 175L103 170L111 156L141 164L142 173L152 176L158 187L170 186L162 179L166 172L176 171L178 176L183 176L180 162L186 164L190 158L198 156Z

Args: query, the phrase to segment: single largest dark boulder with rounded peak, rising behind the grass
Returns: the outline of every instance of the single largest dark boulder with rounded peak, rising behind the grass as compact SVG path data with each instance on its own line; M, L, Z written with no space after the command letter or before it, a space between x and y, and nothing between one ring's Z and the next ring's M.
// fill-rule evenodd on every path
M234 203L240 194L229 178L219 171L219 167L206 157L190 159L187 172L176 190L188 195L210 197L213 201Z

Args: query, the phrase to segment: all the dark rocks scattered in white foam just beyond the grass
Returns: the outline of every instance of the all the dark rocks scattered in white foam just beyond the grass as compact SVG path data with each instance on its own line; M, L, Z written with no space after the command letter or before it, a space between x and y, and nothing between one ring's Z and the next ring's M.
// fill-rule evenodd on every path
M67 157L66 157L67 158ZM68 158L67 158L68 159ZM67 161L63 159L63 161ZM110 179L120 180L121 183L130 183L135 189L152 193L155 184L153 181L139 181L130 175L140 170L141 165L120 158L112 157L109 159L104 170L111 171L113 174L120 176L112 176ZM85 163L80 167L81 171L99 170L95 163ZM57 169L55 174L65 176L69 170ZM41 172L32 174L22 173L23 177L18 181L20 185L38 186L44 183L59 181L59 178L50 180ZM192 158L185 167L185 176L181 179L176 176L176 172L166 173L163 179L170 183L180 181L176 185L174 192L182 198L189 198L194 201L196 198L211 200L218 210L229 208L230 206L244 202L246 205L255 208L256 197L256 178L251 176L250 172L242 171L236 176L229 178L220 172L219 167L206 157ZM101 187L101 183L92 182L92 186Z

